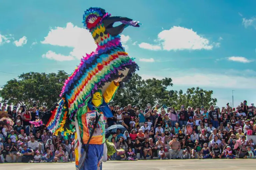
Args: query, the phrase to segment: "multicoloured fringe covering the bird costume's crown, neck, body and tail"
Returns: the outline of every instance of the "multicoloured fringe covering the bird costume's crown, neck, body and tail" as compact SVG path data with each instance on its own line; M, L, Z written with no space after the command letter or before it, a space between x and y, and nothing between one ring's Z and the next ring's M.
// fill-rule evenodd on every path
M101 16L102 19L110 16L109 13L105 13L105 10L98 9L100 8L90 8L85 11L84 20L90 14L97 16L104 14ZM62 132L66 136L75 131L71 123L74 121L78 109L87 106L88 99L98 88L102 88L105 83L120 77L118 71L129 69L126 77L120 82L122 86L122 83L128 82L135 70L138 69L133 58L130 58L124 51L120 36L113 37L106 33L101 21L96 27L90 29L92 37L98 45L96 51L86 54L81 59L81 63L65 81L60 94L61 99L48 113L42 115L42 121L55 134ZM103 36L99 36L100 34Z

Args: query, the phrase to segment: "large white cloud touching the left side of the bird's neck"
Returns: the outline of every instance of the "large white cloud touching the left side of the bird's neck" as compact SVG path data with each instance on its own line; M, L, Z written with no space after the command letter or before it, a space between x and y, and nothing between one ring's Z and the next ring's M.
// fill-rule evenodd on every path
M50 29L41 43L73 48L67 56L69 59L71 57L80 59L86 53L91 53L97 48L91 33L86 29L74 26L72 23L67 23L66 27Z

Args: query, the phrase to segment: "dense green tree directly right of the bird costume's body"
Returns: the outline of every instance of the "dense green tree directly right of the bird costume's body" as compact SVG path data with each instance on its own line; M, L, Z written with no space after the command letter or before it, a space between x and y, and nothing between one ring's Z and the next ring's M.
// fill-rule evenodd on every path
M171 78L143 80L138 74L134 74L130 82L124 83L124 87L117 91L113 103L120 106L132 104L141 108L147 103L153 106L156 103L164 104L169 99L167 88L173 85L171 82Z

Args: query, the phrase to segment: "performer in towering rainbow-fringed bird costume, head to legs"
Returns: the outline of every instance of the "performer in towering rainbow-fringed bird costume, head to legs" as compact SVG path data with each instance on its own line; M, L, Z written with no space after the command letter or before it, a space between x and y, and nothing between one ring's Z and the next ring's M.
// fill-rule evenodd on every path
M122 24L113 27L115 22ZM133 58L125 52L119 34L127 26L139 27L139 24L125 17L111 17L101 8L87 9L83 23L97 44L96 51L81 59L80 65L65 81L59 101L40 116L55 134L61 132L67 136L75 131L76 169L79 169L79 160L87 150L80 169L97 170L102 165L105 121L113 117L108 103L123 82L128 82L138 69Z

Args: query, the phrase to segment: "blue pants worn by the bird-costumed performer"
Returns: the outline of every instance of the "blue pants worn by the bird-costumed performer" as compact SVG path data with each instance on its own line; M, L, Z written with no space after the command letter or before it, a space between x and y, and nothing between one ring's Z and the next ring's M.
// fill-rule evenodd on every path
M103 150L104 144L89 144L84 166L80 170L101 170ZM82 148L81 154L83 151L84 149Z

